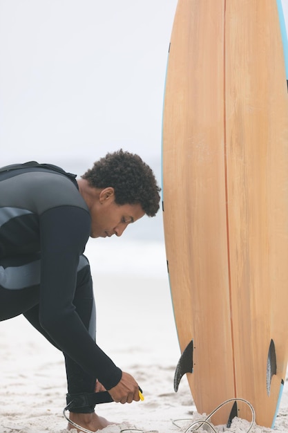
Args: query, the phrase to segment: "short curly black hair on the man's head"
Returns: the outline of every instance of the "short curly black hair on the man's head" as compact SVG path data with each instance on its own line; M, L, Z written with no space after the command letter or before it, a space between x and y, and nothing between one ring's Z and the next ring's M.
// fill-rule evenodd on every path
M161 188L151 168L136 154L122 149L108 153L81 178L92 187L113 187L118 205L140 203L148 216L155 216L159 210Z

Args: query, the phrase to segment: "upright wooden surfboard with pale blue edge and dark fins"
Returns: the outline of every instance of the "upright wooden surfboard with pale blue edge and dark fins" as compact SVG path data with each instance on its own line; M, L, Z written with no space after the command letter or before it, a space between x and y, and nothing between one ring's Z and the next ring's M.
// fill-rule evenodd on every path
M179 0L166 72L167 266L195 406L275 421L288 359L288 96L277 0ZM232 405L232 403L231 403ZM233 410L232 410L233 409ZM244 404L213 423L251 419Z

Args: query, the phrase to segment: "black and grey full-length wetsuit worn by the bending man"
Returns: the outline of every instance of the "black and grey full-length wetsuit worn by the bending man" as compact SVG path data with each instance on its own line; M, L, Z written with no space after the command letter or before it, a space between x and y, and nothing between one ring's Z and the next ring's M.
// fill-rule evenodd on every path
M122 371L95 343L90 213L75 176L17 167L0 169L0 320L23 314L63 351L70 394L93 392L96 378L111 389Z

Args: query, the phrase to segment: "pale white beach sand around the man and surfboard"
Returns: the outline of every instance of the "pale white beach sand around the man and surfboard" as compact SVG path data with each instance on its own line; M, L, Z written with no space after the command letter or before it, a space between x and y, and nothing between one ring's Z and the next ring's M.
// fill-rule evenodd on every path
M180 351L167 279L99 273L94 275L94 281L98 344L119 367L133 374L145 397L130 405L98 405L99 415L120 423L102 432L119 433L131 426L144 432L184 432L185 426L199 415L186 378L177 394L173 391ZM0 326L0 433L66 433L62 354L21 316L1 322ZM253 432L288 432L287 414L286 382L275 430L256 426ZM178 428L173 420L180 418L191 421L181 422L182 428ZM248 428L248 421L236 418L228 431L244 433ZM226 430L224 426L217 427L219 432Z

